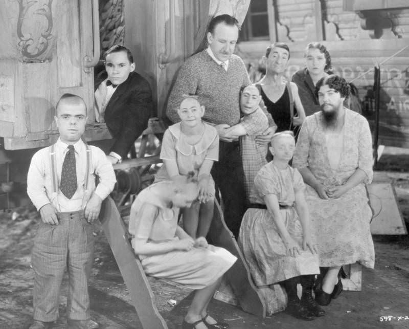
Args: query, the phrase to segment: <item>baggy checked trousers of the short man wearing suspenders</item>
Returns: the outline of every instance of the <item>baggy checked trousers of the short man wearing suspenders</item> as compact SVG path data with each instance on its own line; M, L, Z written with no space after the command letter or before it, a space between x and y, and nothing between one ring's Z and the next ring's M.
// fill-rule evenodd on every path
M94 235L84 211L58 213L58 225L41 224L34 239L34 320L58 318L61 282L69 276L67 317L89 318L88 277L93 264Z

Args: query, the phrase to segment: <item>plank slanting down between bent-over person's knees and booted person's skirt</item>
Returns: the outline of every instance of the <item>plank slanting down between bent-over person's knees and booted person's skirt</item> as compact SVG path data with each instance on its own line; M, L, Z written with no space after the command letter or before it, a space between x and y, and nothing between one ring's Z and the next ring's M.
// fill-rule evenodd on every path
M265 317L265 303L253 283L253 279L233 233L224 222L223 213L217 201L215 201L214 216L208 237L213 245L222 247L237 257L237 261L224 274L224 277L232 287L241 308L245 312Z

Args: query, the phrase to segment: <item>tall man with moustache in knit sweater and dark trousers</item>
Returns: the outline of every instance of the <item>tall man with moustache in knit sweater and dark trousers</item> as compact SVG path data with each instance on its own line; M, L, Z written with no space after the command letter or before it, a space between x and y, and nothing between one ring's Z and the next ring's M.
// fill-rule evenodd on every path
M220 15L210 21L209 46L180 68L166 111L172 122L180 121L177 108L184 94L197 95L205 106L202 119L215 125L220 137L219 162L214 163L211 174L221 192L225 222L235 236L245 211L244 174L238 136L228 135L226 128L239 122L240 89L251 83L243 61L233 54L238 35L236 18Z

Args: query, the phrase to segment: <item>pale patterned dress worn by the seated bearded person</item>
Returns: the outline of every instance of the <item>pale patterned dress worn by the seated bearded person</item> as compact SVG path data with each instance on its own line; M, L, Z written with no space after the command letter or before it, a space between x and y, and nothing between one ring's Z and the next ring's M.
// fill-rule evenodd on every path
M296 168L308 167L327 187L344 184L357 168L366 173L363 183L338 199L321 199L307 185L306 200L319 247L320 266L340 266L358 261L373 268L375 252L369 226L372 211L365 188L373 176L371 131L364 117L350 109L345 111L340 154L335 154L331 141L327 145L328 135L325 134L322 114L318 112L304 121L292 164Z

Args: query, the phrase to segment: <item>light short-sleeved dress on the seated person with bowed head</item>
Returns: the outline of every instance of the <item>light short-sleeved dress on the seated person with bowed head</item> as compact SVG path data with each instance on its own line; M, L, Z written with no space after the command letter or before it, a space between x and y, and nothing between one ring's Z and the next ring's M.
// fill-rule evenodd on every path
M179 208L167 208L158 196L157 187L171 182L158 182L142 190L133 202L129 218L129 233L134 237L147 239L151 243L165 243L173 239L177 228ZM156 216L144 216L144 206L154 205ZM237 258L229 251L209 245L190 251L170 251L160 255L138 255L146 275L168 279L184 284L190 289L210 286L232 267Z

